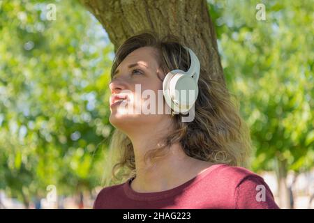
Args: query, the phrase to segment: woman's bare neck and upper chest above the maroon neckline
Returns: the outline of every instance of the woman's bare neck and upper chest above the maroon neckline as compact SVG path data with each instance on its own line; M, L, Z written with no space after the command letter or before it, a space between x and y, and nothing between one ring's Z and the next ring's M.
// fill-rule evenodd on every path
M170 134L171 126L171 120L163 119L158 125L141 125L128 134L135 154L136 178L131 183L133 190L137 192L169 190L185 183L211 165L209 162L186 155L179 142L165 148L169 153L156 160L154 166L149 160L144 162L147 152L157 148L160 139Z

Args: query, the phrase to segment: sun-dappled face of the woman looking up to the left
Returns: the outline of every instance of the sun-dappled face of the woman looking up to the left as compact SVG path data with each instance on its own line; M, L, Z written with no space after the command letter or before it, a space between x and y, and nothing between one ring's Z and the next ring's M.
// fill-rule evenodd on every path
M116 128L133 131L156 126L165 118L165 112L160 112L165 109L161 80L165 74L159 70L157 56L153 47L141 47L128 54L115 70L109 85L109 121Z

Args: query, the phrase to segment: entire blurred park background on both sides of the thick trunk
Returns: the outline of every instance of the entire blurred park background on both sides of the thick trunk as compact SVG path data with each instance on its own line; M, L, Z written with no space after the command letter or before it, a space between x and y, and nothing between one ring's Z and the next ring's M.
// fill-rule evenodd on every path
M314 2L207 4L251 129L251 169L281 208L314 208ZM0 1L0 208L91 208L110 174L112 59L105 29L79 1Z

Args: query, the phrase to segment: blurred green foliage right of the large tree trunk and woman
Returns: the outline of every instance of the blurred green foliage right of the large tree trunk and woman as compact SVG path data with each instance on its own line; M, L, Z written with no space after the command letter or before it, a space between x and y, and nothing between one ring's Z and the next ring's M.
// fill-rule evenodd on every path
M264 3L266 20L257 20ZM227 83L251 128L253 169L314 164L314 2L209 1ZM275 162L274 162L275 161Z

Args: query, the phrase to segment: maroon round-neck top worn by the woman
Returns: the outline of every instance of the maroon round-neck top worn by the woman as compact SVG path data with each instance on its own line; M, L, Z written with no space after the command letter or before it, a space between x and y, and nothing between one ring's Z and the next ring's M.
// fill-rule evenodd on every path
M186 183L162 192L135 192L131 180L103 188L94 208L278 208L261 176L227 164L214 164Z

